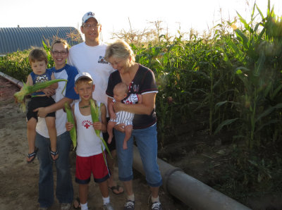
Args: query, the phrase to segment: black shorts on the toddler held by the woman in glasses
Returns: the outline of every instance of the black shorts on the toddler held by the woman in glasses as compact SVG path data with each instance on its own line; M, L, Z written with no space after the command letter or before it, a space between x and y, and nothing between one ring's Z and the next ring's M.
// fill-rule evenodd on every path
M27 121L29 121L30 118L35 118L36 121L38 121L37 111L33 111L34 109L39 107L47 107L55 103L56 102L52 97L32 97L27 104ZM56 117L56 113L48 113L47 117Z

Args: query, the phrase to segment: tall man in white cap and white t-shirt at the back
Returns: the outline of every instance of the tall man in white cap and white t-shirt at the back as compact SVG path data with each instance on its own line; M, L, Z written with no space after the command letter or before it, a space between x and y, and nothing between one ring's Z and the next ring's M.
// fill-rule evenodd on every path
M90 73L94 80L95 91L93 99L101 101L107 107L108 97L106 95L106 87L108 85L109 75L114 72L114 68L110 63L104 60L106 44L100 41L102 25L94 16L94 13L88 12L82 17L81 32L85 35L85 42L76 44L71 47L68 54L68 63L75 66L79 73ZM109 115L107 114L107 117ZM107 118L108 119L108 118ZM107 133L103 133L104 140L108 139ZM113 140L108 145L112 156L116 156L116 142ZM116 185L114 181L114 160L108 158L108 166L111 177L108 180L108 185L115 194L123 193L123 188Z

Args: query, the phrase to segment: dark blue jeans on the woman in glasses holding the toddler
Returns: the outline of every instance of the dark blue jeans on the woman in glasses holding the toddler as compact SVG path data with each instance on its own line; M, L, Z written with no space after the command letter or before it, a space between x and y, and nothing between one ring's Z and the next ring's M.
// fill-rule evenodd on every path
M36 133L36 147L39 159L39 198L40 207L49 207L54 202L54 180L52 166L54 161L50 156L50 139ZM57 150L59 158L55 161L57 172L56 197L59 202L73 202L73 183L69 164L69 151L71 137L69 132L64 132L57 137Z

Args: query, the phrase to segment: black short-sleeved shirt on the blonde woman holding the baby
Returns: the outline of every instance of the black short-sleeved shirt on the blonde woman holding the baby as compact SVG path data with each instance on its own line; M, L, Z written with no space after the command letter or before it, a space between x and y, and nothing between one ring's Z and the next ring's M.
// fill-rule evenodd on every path
M114 98L114 87L119 82L122 82L121 75L118 70L111 73L109 76L108 87L106 89L106 94ZM156 80L154 78L154 73L149 68L142 66L139 64L139 68L136 72L135 77L129 85L128 94L146 94L149 92L158 92ZM156 111L153 109L150 115L145 114L136 114L133 118L133 128L134 129L142 129L148 128L154 123L157 122Z

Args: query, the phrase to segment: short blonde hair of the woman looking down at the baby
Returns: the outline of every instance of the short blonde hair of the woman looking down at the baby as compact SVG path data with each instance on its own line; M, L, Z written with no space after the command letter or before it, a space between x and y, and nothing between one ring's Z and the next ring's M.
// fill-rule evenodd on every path
M108 61L108 59L111 57L123 59L131 57L131 63L135 62L135 55L133 53L133 50L131 49L129 44L123 41L122 39L119 39L116 42L109 44L106 48L106 54L104 58L106 59L106 61Z

